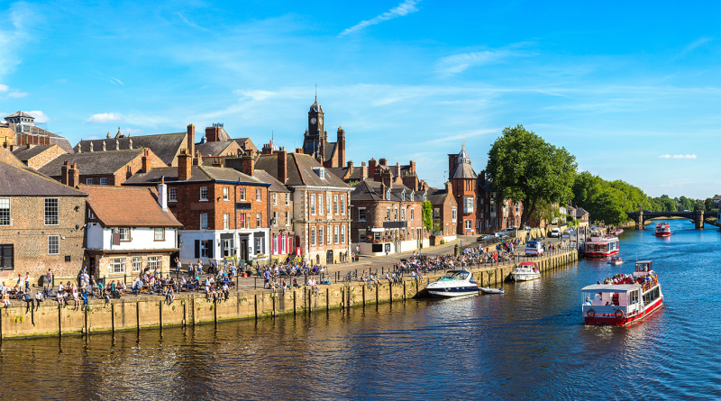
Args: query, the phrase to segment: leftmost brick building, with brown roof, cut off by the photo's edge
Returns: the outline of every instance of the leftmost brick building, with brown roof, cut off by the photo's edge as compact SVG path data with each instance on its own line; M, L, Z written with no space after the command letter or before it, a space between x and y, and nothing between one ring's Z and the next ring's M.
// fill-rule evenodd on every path
M76 278L83 267L84 192L28 169L0 162L0 279L32 282L52 269Z

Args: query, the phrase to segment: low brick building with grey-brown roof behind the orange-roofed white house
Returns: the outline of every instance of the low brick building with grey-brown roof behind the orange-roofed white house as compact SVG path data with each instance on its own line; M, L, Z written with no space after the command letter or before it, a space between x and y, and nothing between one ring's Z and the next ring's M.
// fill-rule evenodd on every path
M149 149L101 150L63 154L52 159L38 171L66 184L68 183L68 165L76 165L76 169L78 169L79 180L75 180L74 185L109 186L119 186L135 173L166 166Z

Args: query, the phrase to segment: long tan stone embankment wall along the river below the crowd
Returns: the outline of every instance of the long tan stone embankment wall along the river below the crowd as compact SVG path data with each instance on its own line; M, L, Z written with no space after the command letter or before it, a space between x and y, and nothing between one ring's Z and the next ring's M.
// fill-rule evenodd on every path
M578 260L575 251L563 251L536 263L542 272L559 269ZM482 269L470 269L481 287L497 287L510 279L515 265L506 264ZM178 296L168 304L161 296L114 301L91 302L87 310L69 306L58 307L54 300L46 300L35 310L23 306L3 308L0 317L0 339L35 336L62 336L80 333L108 333L153 329L170 326L210 324L230 320L260 318L277 314L305 314L311 311L372 305L383 302L402 302L426 296L424 288L443 274L423 280L406 280L403 285L389 286L382 280L379 286L363 286L359 282L321 286L317 293L307 287L274 294L269 290L234 292L227 301L206 301L201 295Z

